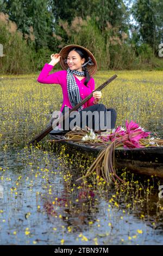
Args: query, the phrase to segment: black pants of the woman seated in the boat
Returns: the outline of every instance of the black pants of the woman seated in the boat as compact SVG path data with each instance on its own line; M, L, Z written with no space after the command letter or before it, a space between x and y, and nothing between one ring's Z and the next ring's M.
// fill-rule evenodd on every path
M69 109L69 108L66 107L66 110L67 109ZM97 115L96 114L91 115L91 113L93 113L93 112L96 113ZM85 125L86 125L90 129L93 129L93 130L114 129L115 124L116 124L117 113L116 113L115 109L114 108L106 108L103 104L92 105L90 107L84 108L80 112L76 111L74 113L76 113L75 117L69 118L70 126L68 126L68 129L67 129L68 121L66 120L63 122L62 127L64 130L72 130L72 128L76 125L79 127L83 126L84 129L85 129ZM90 115L89 115L89 113L90 113ZM62 114L65 114L65 107L62 110ZM85 114L88 114L86 116L86 118L85 118ZM75 120L75 119L77 120L77 122L73 122L73 120ZM103 125L101 123L103 123ZM65 129L65 126L66 126L66 129Z

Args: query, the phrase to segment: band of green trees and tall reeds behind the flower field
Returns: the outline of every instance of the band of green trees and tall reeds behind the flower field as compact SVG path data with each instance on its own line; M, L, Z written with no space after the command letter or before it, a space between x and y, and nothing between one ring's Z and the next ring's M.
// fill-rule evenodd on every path
M0 0L1 73L40 70L67 44L89 48L99 70L162 70L162 9L159 0Z

